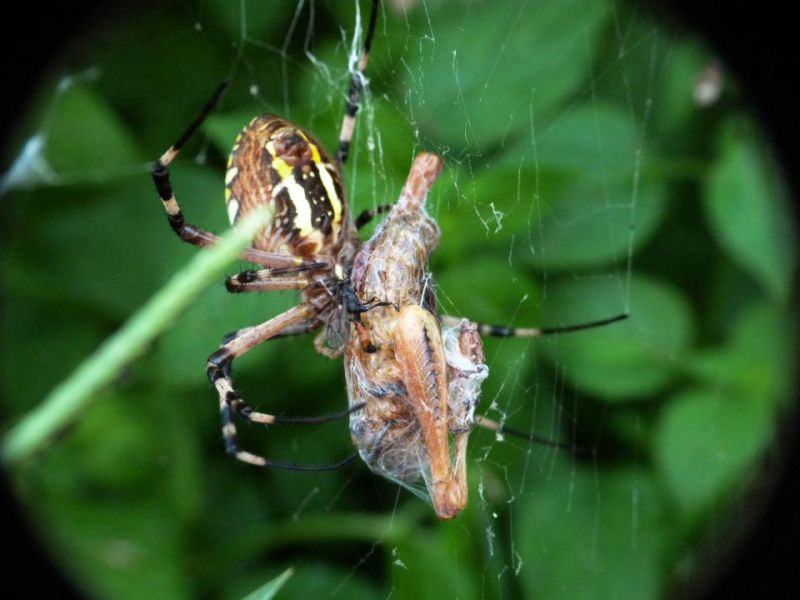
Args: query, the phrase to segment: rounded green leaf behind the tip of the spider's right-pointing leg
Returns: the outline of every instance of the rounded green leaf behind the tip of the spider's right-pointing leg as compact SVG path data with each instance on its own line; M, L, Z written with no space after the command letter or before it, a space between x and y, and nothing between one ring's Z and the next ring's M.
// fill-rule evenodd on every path
M619 276L582 278L548 287L542 309L542 324L548 327L626 310L630 317L622 323L540 342L581 392L613 401L643 399L662 390L680 374L693 337L692 314L676 289L643 276L629 281Z

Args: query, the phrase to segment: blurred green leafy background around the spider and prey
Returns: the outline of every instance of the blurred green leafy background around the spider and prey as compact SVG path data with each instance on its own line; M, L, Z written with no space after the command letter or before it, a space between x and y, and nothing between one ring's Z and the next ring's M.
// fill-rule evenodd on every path
M446 523L361 465L236 464L205 358L295 298L220 285L13 473L32 526L98 597L241 598L293 567L277 597L642 599L713 570L704 536L746 501L795 376L795 232L735 82L724 73L721 98L698 106L712 57L641 5L396 4L345 168L353 211L396 197L415 152L439 152L441 310L551 326L630 312L606 329L487 341L480 411L593 457L475 432L470 505ZM294 2L277 6L109 13L43 81L5 150L10 165L39 135L49 165L0 207L7 426L197 251L164 222L148 160L223 77L220 108L173 169L190 222L226 228L225 155L254 114L334 146L355 4L315 3L307 48L308 9L295 23ZM341 364L310 339L265 344L236 382L279 414L345 405ZM242 430L273 458L351 451L344 423Z

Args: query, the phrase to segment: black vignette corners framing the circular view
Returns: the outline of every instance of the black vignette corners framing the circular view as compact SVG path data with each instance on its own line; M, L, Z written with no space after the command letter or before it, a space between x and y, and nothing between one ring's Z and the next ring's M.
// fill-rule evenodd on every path
M96 2L37 5L17 3L13 18L0 22L4 57L4 85L0 94L0 144L4 145L16 115L33 94L50 57L69 38L90 30ZM791 184L798 194L796 144L800 139L797 94L792 91L800 73L800 53L794 19L777 2L732 6L711 0L658 2L665 16L700 32L735 72L770 134ZM133 3L120 3L134 10ZM154 90L157 92L157 90ZM155 94L157 96L157 94ZM5 168L7 165L3 165ZM795 201L796 202L796 201ZM794 205L795 216L797 204ZM2 293L0 291L0 293ZM742 550L714 586L710 597L787 597L800 590L796 571L796 543L800 518L796 506L794 476L800 472L796 423L785 427L786 444L782 480L763 507L759 527L742 540ZM28 536L15 500L2 489L3 569L7 585L23 585L28 595L58 591L67 596L65 582Z

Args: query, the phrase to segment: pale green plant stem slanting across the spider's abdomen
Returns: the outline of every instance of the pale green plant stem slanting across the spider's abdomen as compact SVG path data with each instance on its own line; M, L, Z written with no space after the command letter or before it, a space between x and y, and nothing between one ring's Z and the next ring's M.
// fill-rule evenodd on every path
M153 339L170 327L204 289L218 280L268 218L266 211L249 215L223 236L219 244L199 252L175 274L122 328L8 432L0 450L3 462L18 466L72 423L96 399L98 391L111 383L126 364L141 356Z

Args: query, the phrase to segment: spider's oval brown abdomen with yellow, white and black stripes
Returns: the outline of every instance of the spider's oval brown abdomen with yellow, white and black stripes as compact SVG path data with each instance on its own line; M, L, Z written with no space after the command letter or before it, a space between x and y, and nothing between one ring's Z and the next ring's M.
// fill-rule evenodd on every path
M311 134L272 115L236 137L225 173L231 224L265 205L272 220L253 240L259 250L303 258L333 256L349 233L339 170Z

